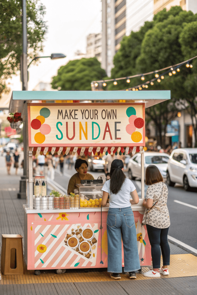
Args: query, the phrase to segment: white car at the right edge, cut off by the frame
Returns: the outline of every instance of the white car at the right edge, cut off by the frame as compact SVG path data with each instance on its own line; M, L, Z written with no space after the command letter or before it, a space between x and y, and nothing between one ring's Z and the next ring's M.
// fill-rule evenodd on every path
M188 191L197 187L197 148L178 148L172 151L167 166L169 186L181 183Z

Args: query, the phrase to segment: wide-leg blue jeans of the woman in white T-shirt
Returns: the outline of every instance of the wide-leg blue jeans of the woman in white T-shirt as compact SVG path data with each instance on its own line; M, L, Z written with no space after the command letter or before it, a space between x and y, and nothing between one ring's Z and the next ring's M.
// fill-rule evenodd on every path
M122 272L122 240L125 272L139 270L140 261L137 248L136 227L131 207L109 208L107 234L108 272Z

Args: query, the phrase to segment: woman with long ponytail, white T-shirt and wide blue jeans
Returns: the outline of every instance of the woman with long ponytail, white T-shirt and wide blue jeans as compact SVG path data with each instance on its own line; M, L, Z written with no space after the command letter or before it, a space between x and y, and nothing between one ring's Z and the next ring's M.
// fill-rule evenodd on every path
M124 249L124 268L131 279L136 278L135 271L140 269L136 227L131 205L138 204L139 197L130 179L123 173L123 161L113 160L110 180L102 187L102 206L106 206L110 195L107 218L108 235L108 272L111 278L121 279L122 241ZM130 199L132 197L132 200Z

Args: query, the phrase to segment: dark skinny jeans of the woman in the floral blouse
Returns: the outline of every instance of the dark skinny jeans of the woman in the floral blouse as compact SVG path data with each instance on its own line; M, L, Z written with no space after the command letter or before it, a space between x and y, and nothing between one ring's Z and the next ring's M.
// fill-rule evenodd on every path
M161 250L163 265L170 265L170 246L167 241L169 227L157 228L146 224L149 241L151 244L151 256L153 268L160 268ZM160 249L161 247L161 249Z

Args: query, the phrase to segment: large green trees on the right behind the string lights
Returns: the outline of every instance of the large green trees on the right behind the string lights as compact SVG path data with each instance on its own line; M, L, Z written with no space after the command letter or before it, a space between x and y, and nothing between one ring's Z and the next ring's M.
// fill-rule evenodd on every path
M196 29L197 14L183 11L180 6L173 6L169 11L163 9L154 16L152 22L145 22L139 32L131 32L130 36L123 38L121 48L114 56L112 78L147 73L196 56ZM146 115L155 123L160 145L166 125L177 113L177 100L181 100L191 114L197 144L197 60L192 63L192 69L183 65L180 72L172 77L165 75L161 83L155 81L153 86L149 84L149 90L171 90L171 101L146 109ZM151 78L154 75L145 76L145 81ZM130 80L129 84L126 80L119 80L116 86L111 83L108 90L126 89L142 83L140 77Z

